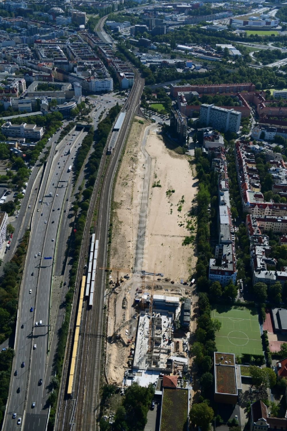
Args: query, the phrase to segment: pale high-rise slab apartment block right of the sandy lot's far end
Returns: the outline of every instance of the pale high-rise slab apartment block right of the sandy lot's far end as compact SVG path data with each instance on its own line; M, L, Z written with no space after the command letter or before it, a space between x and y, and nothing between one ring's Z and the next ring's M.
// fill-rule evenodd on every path
M200 122L224 131L238 132L240 128L241 112L225 109L203 103L200 106Z

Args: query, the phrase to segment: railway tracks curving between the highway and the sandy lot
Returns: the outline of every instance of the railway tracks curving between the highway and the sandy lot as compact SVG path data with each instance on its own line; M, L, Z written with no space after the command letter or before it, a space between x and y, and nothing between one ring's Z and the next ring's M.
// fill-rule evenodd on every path
M106 17L100 19L97 28L103 30L103 23ZM140 96L143 91L144 79L140 77L139 72L134 69L134 85L131 88L130 94L123 109L126 110L126 115L122 128L119 131L119 137L115 144L112 154L107 162L106 150L109 147L108 137L105 154L102 157L97 181L90 200L90 207L87 213L87 221L84 229L84 239L80 253L78 266L77 284L76 284L76 300L81 296L81 283L83 275L86 275L89 266L90 256L90 226L94 215L98 192L100 198L98 204L98 216L94 223L94 240L98 240L97 253L97 268L106 265L106 254L108 246L109 232L109 212L112 194L112 183L115 175L115 170L119 162L119 157L122 152L122 147L125 143L125 137L128 133L128 128L137 106L140 101ZM112 132L112 130L111 130ZM107 166L106 166L107 162ZM106 166L106 172L104 168ZM101 184L102 180L102 184ZM101 185L101 187L100 187ZM94 268L93 268L94 270ZM88 275L88 272L87 272ZM94 431L96 428L97 418L97 403L100 375L103 367L101 367L101 347L103 341L103 302L105 292L105 272L96 271L94 280L94 295L92 304L89 306L89 298L83 301L83 309L79 310L74 307L72 312L72 320L69 334L69 343L64 366L64 375L62 386L60 388L60 404L58 414L56 416L55 429L57 431L66 430L89 430ZM92 306L91 306L92 305ZM69 376L71 374L71 362L73 359L73 340L77 328L78 312L81 311L81 322L79 325L78 337L78 355L75 359L75 371L73 373L73 384L69 385ZM74 365L73 365L74 366ZM68 388L69 386L69 388Z

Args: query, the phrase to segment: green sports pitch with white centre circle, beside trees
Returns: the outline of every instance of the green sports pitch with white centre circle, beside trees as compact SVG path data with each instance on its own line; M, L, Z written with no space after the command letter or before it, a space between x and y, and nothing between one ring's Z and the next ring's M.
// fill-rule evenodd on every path
M212 319L221 322L215 333L218 352L263 355L258 316L255 309L246 307L216 306L211 312Z

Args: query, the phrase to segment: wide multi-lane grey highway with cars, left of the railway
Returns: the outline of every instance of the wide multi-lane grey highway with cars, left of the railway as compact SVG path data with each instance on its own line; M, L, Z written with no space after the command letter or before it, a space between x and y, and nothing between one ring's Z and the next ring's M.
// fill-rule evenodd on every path
M32 229L19 297L16 355L4 418L5 430L16 428L18 418L22 419L21 428L24 430L46 428L47 386L50 381L50 375L46 373L49 334L47 325L53 258L60 217L62 215L65 222L68 216L69 197L66 197L66 190L72 175L68 172L68 167L73 165L76 149L85 135L83 131L70 132L71 135L72 133L76 135L64 138L58 147L56 144L52 145L37 202L32 205L29 201L33 209ZM71 154L67 155L66 151L69 150ZM24 210L23 204L22 209ZM39 325L40 320L42 326ZM24 366L22 362L25 362ZM17 375L14 375L16 371ZM39 384L40 379L42 384ZM35 403L33 408L32 403ZM12 419L14 412L16 419Z

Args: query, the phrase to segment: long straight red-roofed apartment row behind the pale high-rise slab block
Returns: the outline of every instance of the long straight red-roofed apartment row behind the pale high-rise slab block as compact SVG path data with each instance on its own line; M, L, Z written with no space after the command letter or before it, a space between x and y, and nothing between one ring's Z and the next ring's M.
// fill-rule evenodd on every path
M241 84L170 84L170 94L172 97L176 97L178 91L197 91L199 94L241 93L242 91L255 91L255 85L252 82Z

